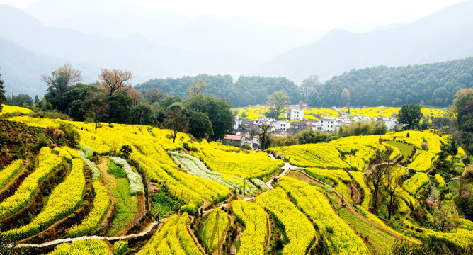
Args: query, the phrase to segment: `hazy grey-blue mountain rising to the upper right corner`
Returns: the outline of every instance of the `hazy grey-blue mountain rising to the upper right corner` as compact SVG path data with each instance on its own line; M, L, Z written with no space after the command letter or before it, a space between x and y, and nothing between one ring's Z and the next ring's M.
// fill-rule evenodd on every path
M449 6L397 28L355 34L332 30L315 43L290 50L253 70L297 83L309 75L330 79L350 69L401 66L473 56L473 1Z

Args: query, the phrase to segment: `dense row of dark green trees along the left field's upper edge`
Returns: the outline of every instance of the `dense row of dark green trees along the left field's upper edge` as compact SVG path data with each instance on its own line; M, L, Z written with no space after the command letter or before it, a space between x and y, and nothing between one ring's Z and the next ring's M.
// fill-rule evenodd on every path
M82 83L81 72L64 64L42 76L47 93L35 100L25 94L5 97L0 80L0 103L33 108L37 117L70 118L76 121L154 125L177 132L189 132L195 138L222 139L233 128L232 106L213 95L204 96L206 84L188 87L187 100L169 96L159 89L145 95L130 84L132 72L102 69L98 81Z

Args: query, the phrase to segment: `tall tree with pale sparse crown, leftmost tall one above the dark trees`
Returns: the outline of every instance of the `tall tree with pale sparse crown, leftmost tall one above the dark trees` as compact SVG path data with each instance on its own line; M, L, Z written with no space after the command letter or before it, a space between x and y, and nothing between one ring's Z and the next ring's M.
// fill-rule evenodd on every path
M46 100L57 110L64 112L66 105L62 97L69 91L69 86L83 81L83 79L81 77L81 71L72 69L71 64L63 64L62 67L51 72L50 76L43 74L42 81L47 84Z

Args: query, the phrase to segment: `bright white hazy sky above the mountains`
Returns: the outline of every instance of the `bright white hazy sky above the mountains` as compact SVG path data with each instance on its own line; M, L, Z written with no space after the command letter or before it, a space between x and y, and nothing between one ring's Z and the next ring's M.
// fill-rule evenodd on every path
M0 0L25 8L38 0ZM67 0L64 0L67 1ZM464 0L125 0L188 16L241 16L260 23L330 30L377 23L409 23Z

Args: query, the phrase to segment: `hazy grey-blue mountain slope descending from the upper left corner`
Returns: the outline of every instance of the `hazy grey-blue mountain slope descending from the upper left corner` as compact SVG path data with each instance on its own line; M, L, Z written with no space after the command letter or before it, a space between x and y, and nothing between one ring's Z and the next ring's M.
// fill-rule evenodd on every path
M55 57L64 62L128 69L134 73L132 82L184 74L243 72L253 61L232 52L195 53L164 47L142 35L103 38L69 28L53 28L8 5L0 5L0 35L38 55Z

